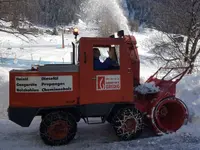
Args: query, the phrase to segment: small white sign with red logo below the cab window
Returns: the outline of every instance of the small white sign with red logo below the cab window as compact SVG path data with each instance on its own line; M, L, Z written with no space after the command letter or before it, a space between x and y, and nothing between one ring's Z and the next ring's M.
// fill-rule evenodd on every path
M96 90L120 90L120 75L98 75L96 82Z

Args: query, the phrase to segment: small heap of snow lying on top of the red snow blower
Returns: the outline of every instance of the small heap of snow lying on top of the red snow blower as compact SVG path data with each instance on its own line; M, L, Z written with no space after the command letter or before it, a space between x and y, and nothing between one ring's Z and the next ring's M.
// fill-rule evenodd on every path
M135 91L140 94L158 93L160 88L155 85L155 82L144 83L135 88Z

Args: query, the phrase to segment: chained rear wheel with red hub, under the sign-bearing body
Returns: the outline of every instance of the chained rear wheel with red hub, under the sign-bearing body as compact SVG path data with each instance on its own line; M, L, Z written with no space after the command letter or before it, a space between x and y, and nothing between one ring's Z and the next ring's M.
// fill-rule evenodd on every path
M69 113L60 111L46 115L40 124L41 139L51 146L68 144L74 139L76 131L75 118Z

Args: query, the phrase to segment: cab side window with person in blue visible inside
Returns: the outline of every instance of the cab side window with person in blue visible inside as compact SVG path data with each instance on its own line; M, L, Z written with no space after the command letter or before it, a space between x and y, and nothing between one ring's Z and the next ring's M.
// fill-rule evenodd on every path
M120 69L120 46L93 46L93 69L94 70L119 70Z

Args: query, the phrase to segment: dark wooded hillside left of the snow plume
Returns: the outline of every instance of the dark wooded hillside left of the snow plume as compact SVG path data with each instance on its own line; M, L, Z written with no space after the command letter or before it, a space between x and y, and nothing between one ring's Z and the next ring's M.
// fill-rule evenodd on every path
M77 21L79 0L0 0L0 19L11 21L18 29L20 21L55 27Z

